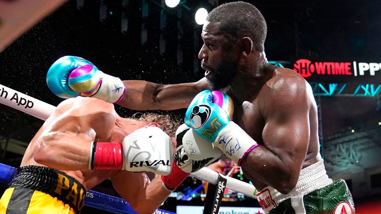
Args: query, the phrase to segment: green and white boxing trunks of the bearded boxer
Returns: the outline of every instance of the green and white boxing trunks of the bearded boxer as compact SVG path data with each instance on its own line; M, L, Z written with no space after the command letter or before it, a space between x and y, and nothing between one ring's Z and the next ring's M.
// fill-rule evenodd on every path
M345 181L328 178L323 160L302 169L295 188L288 194L267 186L256 196L266 214L355 213Z

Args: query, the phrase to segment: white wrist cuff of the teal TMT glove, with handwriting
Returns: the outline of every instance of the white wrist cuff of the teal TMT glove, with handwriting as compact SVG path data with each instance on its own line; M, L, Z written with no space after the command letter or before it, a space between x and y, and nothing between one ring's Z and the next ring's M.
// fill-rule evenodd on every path
M246 157L258 144L239 125L230 121L218 134L214 141L214 146L222 150L226 157L235 163L241 163L241 159Z

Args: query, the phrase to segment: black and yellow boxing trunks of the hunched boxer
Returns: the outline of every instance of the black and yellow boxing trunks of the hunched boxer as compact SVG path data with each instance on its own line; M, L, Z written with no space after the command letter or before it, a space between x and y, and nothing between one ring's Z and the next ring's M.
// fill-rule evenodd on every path
M83 185L62 171L22 166L0 199L0 214L79 214L85 196Z

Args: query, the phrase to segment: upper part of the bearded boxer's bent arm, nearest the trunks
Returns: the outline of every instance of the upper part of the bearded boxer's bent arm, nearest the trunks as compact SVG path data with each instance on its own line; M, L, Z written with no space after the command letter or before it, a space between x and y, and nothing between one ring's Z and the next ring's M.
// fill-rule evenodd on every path
M302 81L287 82L272 90L275 97L264 109L264 146L292 171L303 165L310 139L309 104Z

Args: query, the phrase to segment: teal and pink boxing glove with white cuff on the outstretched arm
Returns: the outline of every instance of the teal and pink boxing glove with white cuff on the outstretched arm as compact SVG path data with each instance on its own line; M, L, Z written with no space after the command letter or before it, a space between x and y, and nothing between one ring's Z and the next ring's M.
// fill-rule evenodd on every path
M63 56L48 70L49 89L60 98L94 97L108 103L118 103L126 92L122 80L98 70L86 59Z

